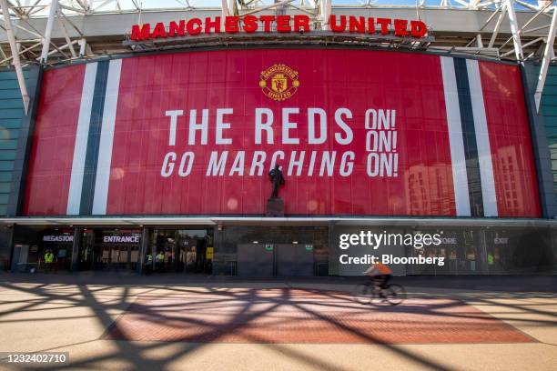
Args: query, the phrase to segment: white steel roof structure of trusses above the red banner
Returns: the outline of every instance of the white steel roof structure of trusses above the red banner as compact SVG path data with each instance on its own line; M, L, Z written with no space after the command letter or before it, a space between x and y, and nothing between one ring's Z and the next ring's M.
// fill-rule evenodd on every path
M356 44L540 61L539 98L547 68L555 61L556 4L557 0L0 0L0 65L14 65L20 72L29 64L192 45ZM132 25L258 14L309 15L315 36L255 33L190 37L177 43L129 41ZM419 19L428 25L430 37L409 41L335 35L329 30L329 15ZM23 75L18 75L25 101Z

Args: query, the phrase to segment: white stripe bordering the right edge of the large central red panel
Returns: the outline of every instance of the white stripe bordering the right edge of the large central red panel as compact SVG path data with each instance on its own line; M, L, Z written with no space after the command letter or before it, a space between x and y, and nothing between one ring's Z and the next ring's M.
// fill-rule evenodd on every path
M454 74L454 61L449 56L441 56L441 72L445 91L445 109L449 125L449 145L451 145L452 183L457 216L471 216L470 196L468 194L468 175L466 156L462 137L461 108L459 92Z

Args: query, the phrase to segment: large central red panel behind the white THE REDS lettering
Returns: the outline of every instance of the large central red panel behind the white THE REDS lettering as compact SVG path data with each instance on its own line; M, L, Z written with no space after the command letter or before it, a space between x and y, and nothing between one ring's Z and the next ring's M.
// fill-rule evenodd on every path
M277 102L262 93L261 72L276 64L299 73L298 91ZM216 109L231 107L226 131L231 145L215 144ZM254 140L255 108L274 113L274 144ZM282 144L281 109L298 107L299 145ZM326 111L328 141L308 144L309 107ZM334 113L349 108L354 138L339 145ZM208 145L187 145L188 113L209 109ZM366 173L365 112L395 109L399 173ZM175 146L168 145L167 110L183 110L177 120ZM235 155L246 151L246 172L254 151L268 156L282 150L287 173L291 151L306 151L302 175L286 176L279 194L289 215L454 216L451 156L439 57L355 50L236 50L148 55L123 60L117 105L107 214L263 214L271 184L262 176L206 176L211 151L228 151L228 173ZM198 139L198 136L197 136ZM311 151L345 151L356 155L349 176L307 174ZM196 155L187 177L161 176L169 151ZM268 166L268 163L266 164ZM267 169L268 170L268 169ZM266 172L267 172L266 170ZM265 172L265 173L266 173ZM175 171L176 173L176 171Z

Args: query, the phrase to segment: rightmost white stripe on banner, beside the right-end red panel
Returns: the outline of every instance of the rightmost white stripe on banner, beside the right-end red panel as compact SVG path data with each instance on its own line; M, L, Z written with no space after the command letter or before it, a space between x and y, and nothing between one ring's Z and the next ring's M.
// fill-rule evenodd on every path
M474 130L476 132L476 145L478 146L478 160L480 163L483 216L498 216L495 178L493 176L493 163L491 162L490 135L485 116L485 105L483 104L478 61L467 60L466 70L468 71Z

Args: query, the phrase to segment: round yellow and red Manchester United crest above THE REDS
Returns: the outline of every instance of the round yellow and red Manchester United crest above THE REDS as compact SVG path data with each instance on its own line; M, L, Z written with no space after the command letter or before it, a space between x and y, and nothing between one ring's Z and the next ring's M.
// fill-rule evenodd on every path
M296 94L299 86L298 71L288 65L271 65L261 72L259 86L263 94L276 101L283 101Z

